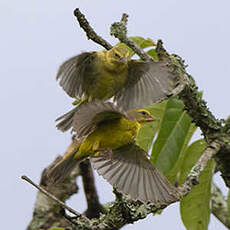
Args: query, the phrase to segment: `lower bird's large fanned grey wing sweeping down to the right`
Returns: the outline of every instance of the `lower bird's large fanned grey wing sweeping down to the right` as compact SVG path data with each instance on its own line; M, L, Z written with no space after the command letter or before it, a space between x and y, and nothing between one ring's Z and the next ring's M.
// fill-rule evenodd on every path
M178 199L176 188L135 144L108 150L90 160L94 169L112 186L134 200L169 204Z

